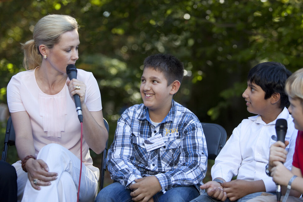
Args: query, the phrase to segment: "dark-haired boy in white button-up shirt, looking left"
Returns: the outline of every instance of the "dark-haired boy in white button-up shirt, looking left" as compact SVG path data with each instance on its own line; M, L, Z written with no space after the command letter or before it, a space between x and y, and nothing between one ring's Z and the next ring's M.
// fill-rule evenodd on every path
M287 111L285 81L292 73L281 63L264 62L248 73L242 94L247 111L257 116L244 119L232 132L211 169L213 181L201 185L206 192L193 201L246 201L262 192L274 192L276 185L266 175L269 147L276 142L275 123L287 120L285 140L289 141L285 166L292 166L297 130ZM232 177L237 176L236 180Z

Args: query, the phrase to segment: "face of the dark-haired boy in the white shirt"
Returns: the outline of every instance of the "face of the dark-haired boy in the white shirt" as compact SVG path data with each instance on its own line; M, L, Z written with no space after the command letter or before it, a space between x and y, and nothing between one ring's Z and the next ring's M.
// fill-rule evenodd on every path
M254 82L247 82L247 88L242 94L242 97L245 98L247 111L253 114L264 115L267 114L270 103L269 99L264 99L265 91L259 85L256 85Z

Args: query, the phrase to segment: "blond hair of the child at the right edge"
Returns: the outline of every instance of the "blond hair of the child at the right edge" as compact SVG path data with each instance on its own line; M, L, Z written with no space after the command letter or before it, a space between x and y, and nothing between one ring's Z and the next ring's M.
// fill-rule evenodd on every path
M300 99L303 102L303 68L295 71L285 84L285 92L292 99Z

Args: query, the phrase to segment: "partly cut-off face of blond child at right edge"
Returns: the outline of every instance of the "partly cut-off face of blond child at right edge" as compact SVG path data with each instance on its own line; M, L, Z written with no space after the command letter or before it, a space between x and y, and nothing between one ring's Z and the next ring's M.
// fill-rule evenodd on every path
M295 128L303 131L303 107L300 99L292 99L288 96L290 105L288 107L289 113L292 115Z

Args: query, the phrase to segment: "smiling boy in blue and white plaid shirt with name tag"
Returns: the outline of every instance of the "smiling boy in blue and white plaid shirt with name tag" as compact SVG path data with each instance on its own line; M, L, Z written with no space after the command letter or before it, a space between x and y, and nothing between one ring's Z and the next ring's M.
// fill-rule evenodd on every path
M199 196L206 174L207 147L198 118L172 98L183 78L183 64L157 54L144 61L140 93L119 118L108 150L114 182L101 201L189 201Z

